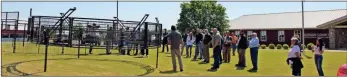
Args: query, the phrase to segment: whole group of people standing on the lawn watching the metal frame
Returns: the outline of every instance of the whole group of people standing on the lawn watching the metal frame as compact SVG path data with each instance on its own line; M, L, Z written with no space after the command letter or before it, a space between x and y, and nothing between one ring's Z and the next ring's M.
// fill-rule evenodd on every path
M222 62L230 63L231 51L232 55L235 56L235 52L238 53L238 63L236 67L244 68L246 67L245 52L247 48L250 48L250 56L252 60L253 68L249 69L249 72L257 72L258 70L258 49L259 49L259 39L257 33L252 33L251 40L247 40L247 37L243 32L240 32L239 37L237 37L234 32L226 32L222 36L216 28L212 28L212 32L208 29L196 29L193 31L188 31L181 34L177 31L176 26L171 26L171 33L164 33L164 46L168 48L167 45L171 45L171 56L173 70L176 71L176 58L178 58L178 63L180 66L180 71L183 71L182 55L184 48L186 48L186 58L191 58L192 47L195 44L195 54L193 60L203 60L202 63L210 62L209 49L213 49L213 66L209 71L216 71ZM167 41L165 41L167 40ZM287 63L291 65L292 75L301 76L301 69L303 64L301 62L301 54L303 50L300 45L300 40L298 37L293 36L291 39L291 49L288 54ZM322 69L322 60L324 52L324 42L322 39L317 39L316 45L312 47L315 54L315 64L319 73L319 76L324 76ZM167 49L167 52L169 50ZM164 52L164 48L163 48ZM222 56L223 55L223 56Z

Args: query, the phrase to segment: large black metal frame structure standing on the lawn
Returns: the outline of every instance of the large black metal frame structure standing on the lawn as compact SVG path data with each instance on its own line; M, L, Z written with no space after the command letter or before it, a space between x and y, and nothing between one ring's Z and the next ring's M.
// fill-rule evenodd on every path
M27 24L24 24L24 35L28 36L27 41L38 44L45 45L45 57L44 57L44 72L47 71L47 55L48 55L48 46L55 45L61 46L62 54L64 54L64 47L73 47L78 48L77 58L80 57L80 48L82 46L87 47L86 44L81 44L85 40L88 41L88 38L84 39L85 35L88 33L100 33L101 35L105 34L110 35L109 38L103 38L100 35L100 39L94 40L104 40L107 43L111 40L111 45L93 45L89 43L90 48L94 49L129 49L133 46L141 45L141 49L145 49L148 52L150 47L158 48L160 47L161 42L161 24L156 18L156 23L146 22L149 14L145 14L141 21L124 21L119 20L118 17L113 19L100 19L100 18L83 18L83 17L70 17L70 15L76 10L75 7L68 9L65 13L60 13L61 16L32 16L32 9L30 9L30 17L28 18ZM18 30L18 19L14 20L15 29ZM118 14L117 14L118 16ZM8 22L10 19L5 19L2 22ZM7 23L3 23L6 24ZM96 29L88 29L90 25L97 26ZM3 25L2 25L3 26ZM129 29L125 31L125 29ZM127 34L125 37L120 38L122 34ZM65 36L67 35L67 41L64 42ZM153 38L155 38L153 40ZM50 42L53 39L55 41ZM14 38L14 44L16 43ZM25 39L23 40L24 47ZM126 42L127 47L114 47L119 46ZM38 45L40 48L40 45ZM95 46L95 47L92 47ZM111 48L110 48L111 46ZM106 47L106 48L105 48ZM39 53L38 48L38 53ZM14 46L15 52L15 46ZM140 48L137 48L140 49ZM158 52L157 52L158 53ZM157 54L158 57L158 54ZM158 60L157 60L158 62ZM157 63L158 65L158 63Z

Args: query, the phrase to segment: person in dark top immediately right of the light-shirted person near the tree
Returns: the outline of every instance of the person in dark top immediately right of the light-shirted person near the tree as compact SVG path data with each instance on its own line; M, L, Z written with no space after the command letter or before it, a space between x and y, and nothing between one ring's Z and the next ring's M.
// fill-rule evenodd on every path
M200 29L196 29L196 34L195 34L195 55L194 55L194 58L193 58L193 60L196 60L196 58L199 56L199 53L200 53L200 57L199 57L199 59L202 59L203 57L202 57L202 52L201 52L201 45L202 45L202 43L201 43L201 40L202 40L202 38L203 38L203 35L201 34L201 32L200 32Z

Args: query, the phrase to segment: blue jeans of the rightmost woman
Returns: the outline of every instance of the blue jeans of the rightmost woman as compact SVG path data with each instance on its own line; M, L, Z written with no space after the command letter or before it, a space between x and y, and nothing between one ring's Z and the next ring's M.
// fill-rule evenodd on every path
M323 72L323 68L322 68L323 56L322 55L315 55L314 56L314 62L316 64L319 76L324 76L324 72Z

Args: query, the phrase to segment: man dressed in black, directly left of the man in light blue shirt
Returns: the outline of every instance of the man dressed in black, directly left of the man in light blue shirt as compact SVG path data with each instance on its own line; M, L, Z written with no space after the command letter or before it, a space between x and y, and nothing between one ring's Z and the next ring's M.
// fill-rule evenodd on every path
M246 67L246 58L245 58L245 51L248 48L247 44L247 38L244 35L243 32L240 32L240 41L238 43L238 49L239 49L239 62L235 66L237 67Z

